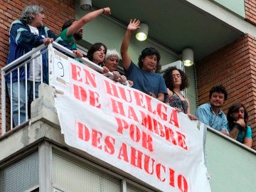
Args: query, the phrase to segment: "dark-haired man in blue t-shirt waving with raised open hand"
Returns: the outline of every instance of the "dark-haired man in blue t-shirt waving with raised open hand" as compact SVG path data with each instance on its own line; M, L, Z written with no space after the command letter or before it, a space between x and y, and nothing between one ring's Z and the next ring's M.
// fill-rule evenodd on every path
M142 54L139 55L139 67L132 62L128 53L132 31L139 28L139 23L140 21L136 18L130 20L122 41L120 52L122 55L124 72L127 78L134 82L132 87L164 102L164 95L167 95L164 78L161 75L154 73L156 64L159 63L161 58L159 51L155 48L144 48Z

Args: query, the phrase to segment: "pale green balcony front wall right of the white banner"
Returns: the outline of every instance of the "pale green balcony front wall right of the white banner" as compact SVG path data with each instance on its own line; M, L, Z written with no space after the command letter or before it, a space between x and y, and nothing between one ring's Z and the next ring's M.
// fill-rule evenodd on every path
M256 151L208 129L206 166L212 192L256 191Z

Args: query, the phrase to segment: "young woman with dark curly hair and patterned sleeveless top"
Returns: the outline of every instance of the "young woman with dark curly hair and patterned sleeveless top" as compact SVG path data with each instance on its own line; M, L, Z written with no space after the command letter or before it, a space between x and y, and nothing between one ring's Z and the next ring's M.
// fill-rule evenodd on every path
M191 120L197 120L195 115L190 114L189 101L187 97L181 94L181 90L188 87L188 78L186 74L176 67L171 67L164 73L164 80L169 95L169 103L178 112L188 114Z

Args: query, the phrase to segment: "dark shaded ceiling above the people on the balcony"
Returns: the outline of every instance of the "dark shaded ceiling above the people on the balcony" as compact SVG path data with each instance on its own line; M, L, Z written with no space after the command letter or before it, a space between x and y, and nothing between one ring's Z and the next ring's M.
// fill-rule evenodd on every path
M125 25L130 18L138 18L149 26L149 38L178 55L183 48L191 47L194 60L243 34L185 0L92 0L92 6L95 9L110 6L112 17Z

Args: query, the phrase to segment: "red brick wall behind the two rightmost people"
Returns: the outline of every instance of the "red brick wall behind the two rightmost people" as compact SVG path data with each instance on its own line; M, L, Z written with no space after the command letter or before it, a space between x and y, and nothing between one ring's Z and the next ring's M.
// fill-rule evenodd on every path
M245 105L256 149L256 38L245 35L211 53L196 63L196 72L199 105L208 102L210 88L219 84L228 91L228 100L222 108L225 114L235 102Z

